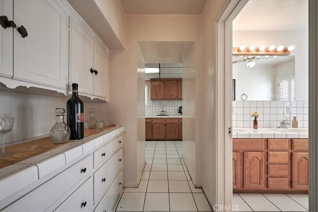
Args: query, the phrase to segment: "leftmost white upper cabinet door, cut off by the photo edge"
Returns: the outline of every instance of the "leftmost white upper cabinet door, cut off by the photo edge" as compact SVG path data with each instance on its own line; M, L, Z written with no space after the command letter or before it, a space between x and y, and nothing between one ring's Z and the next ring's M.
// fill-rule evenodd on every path
M0 0L0 15L13 20L13 1ZM13 28L0 26L0 76L11 78L13 75Z

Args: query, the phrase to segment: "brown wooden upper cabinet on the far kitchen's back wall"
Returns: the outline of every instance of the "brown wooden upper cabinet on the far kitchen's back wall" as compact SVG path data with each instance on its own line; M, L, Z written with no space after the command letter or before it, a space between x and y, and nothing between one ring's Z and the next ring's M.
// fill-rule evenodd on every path
M151 100L182 99L182 79L151 79Z

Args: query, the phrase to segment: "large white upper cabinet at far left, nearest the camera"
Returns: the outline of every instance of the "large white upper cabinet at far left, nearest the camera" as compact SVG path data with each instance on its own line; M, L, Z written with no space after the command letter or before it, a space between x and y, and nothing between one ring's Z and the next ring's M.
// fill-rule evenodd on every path
M14 29L0 29L0 75L12 77L1 82L10 88L24 85L65 91L69 74L66 6L42 0L1 0L0 4L1 15L16 24ZM28 34L24 38L18 32L21 25Z

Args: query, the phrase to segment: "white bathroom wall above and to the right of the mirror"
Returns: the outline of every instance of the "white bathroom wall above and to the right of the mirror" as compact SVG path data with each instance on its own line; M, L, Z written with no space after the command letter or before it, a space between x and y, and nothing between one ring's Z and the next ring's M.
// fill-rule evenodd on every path
M308 30L233 31L233 47L295 45L295 98L308 100Z

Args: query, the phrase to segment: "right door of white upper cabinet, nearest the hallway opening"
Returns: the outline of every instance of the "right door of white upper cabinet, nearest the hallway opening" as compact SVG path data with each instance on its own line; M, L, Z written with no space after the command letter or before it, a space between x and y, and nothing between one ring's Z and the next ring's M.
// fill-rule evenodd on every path
M94 43L94 95L108 98L108 51Z

